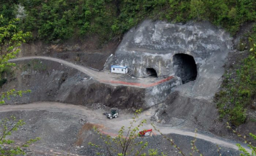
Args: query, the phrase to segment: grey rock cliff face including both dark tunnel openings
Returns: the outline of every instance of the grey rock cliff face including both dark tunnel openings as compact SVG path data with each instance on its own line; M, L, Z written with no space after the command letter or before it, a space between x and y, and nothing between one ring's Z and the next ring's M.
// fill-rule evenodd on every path
M196 79L193 89L199 96L213 96L231 48L230 35L208 22L144 21L124 36L105 69L123 65L137 77L153 71L157 77L176 75L183 83ZM210 90L209 85L213 86Z

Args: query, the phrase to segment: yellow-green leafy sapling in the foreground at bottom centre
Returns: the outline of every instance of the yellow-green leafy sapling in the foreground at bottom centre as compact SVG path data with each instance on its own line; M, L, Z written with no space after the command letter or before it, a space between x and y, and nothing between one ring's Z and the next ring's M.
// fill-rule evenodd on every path
M103 134L99 129L94 128L95 131L100 135L100 139L105 143L105 146L100 146L97 144L89 143L92 147L96 147L97 150L101 150L105 147L107 149L107 155L118 155L118 156L128 156L128 155L136 155L136 156L166 156L163 152L159 152L159 149L149 149L148 152L144 152L145 148L147 147L148 143L144 142L142 140L137 139L138 136L141 136L139 133L139 128L142 128L144 123L146 123L146 120L142 120L137 125L137 119L139 118L139 114L142 112L142 109L137 110L134 113L134 117L132 118L132 121L130 122L129 127L127 128L127 133L125 132L125 127L122 126L120 128L118 135L116 137L111 137L110 135ZM167 141L171 143L171 146L173 146L176 150L178 150L178 153L185 156L184 153L181 151L181 149L174 143L174 140L166 137L163 133L161 133L160 130L156 129L156 126L154 124L151 124L155 130L157 130L160 135L162 135ZM199 152L196 145L194 144L196 142L195 140L191 141L193 142L193 152ZM101 152L97 152L97 155L103 155Z

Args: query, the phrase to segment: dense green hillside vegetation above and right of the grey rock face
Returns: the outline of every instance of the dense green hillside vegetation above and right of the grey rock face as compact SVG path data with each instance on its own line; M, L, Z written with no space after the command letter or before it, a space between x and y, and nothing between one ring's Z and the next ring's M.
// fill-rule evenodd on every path
M210 21L231 35L242 24L256 21L255 0L0 0L0 4L4 16L1 26L20 18L17 28L31 31L33 40L47 43L96 35L104 44L122 37L145 18L172 23ZM256 27L247 37L256 40L255 32ZM256 99L256 61L252 55L225 74L216 94L220 118L228 118L235 126L245 123L247 108Z

